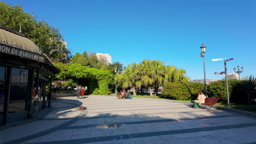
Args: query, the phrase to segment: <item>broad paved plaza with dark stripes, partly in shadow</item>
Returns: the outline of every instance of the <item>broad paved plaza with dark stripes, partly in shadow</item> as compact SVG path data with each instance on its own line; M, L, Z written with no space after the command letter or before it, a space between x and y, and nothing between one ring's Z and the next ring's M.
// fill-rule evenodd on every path
M98 95L53 100L43 119L0 130L0 143L255 142L255 117L192 109L183 101Z

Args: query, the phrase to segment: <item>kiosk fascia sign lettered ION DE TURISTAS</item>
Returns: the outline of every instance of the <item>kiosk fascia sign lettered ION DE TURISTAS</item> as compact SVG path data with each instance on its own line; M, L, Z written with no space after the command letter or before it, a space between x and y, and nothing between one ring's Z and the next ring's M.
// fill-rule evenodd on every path
M4 52L4 53L8 53L10 55L15 55L15 56L20 56L20 57L25 57L25 58L33 59L36 61L39 61L39 57L40 57L36 53L28 52L25 50L21 50L21 49L3 45L3 44L0 44L0 52Z

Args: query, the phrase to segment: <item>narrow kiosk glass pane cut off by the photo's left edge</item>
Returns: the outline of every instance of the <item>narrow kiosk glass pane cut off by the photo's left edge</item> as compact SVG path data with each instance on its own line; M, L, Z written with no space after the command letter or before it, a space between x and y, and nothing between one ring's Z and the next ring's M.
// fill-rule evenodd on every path
M3 115L4 109L4 83L5 83L5 67L0 67L0 115Z

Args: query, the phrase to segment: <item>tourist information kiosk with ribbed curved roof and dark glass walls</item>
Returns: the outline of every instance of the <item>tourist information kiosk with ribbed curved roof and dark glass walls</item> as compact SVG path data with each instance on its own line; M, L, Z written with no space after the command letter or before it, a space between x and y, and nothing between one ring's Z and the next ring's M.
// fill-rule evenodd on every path
M58 73L24 34L0 25L0 125L31 118L50 107L51 87L46 86L51 83L49 76Z

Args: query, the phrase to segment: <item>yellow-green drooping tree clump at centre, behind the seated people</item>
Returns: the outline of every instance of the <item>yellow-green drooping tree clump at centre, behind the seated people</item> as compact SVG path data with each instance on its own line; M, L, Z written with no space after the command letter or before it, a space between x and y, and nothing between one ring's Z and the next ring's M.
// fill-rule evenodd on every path
M178 69L173 65L165 66L158 60L143 59L139 64L127 65L124 73L118 74L115 80L117 80L118 86L123 88L149 88L150 95L153 95L151 89L154 88L154 94L157 95L158 88L167 82L188 81L188 77L184 74L185 70Z

